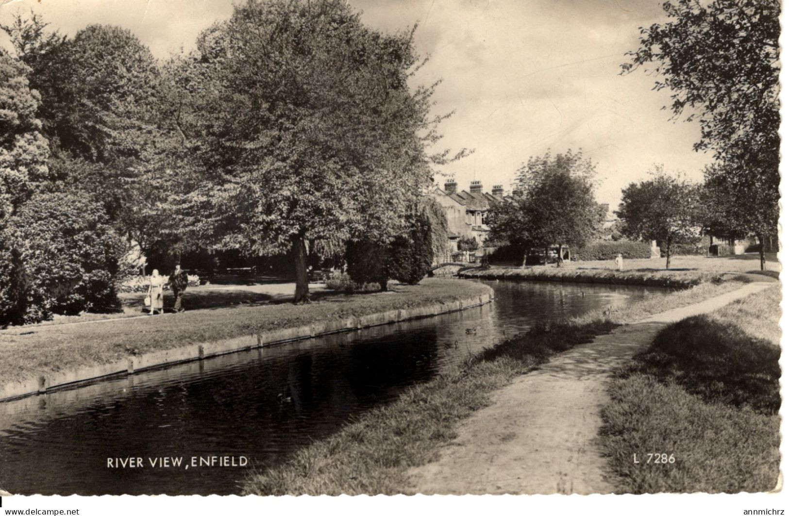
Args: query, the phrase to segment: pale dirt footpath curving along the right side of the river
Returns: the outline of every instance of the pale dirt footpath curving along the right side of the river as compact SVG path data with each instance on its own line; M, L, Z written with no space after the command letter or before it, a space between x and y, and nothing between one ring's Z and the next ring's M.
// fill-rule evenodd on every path
M492 394L464 421L438 461L409 472L413 492L441 494L608 493L597 444L612 369L648 346L667 323L711 312L771 283L750 283L696 305L600 335Z

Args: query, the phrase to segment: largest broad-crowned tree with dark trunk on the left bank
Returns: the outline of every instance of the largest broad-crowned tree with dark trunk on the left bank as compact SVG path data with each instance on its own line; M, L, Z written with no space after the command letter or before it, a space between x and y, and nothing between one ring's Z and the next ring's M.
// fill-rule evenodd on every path
M431 163L449 159L425 151L441 117L436 84L407 84L411 36L365 27L340 0L250 0L204 32L178 79L189 113L174 110L196 179L185 203L210 205L196 233L290 252L296 302L308 301L308 242L403 234Z

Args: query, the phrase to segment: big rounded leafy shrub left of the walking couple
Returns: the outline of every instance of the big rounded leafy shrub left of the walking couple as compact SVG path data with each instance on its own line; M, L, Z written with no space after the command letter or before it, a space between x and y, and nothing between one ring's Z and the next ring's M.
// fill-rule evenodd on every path
M6 235L27 280L24 294L13 294L4 284L0 297L24 295L24 323L47 320L53 313L120 308L114 277L124 251L122 238L101 204L87 194L33 196L9 219ZM17 300L17 306L22 302Z

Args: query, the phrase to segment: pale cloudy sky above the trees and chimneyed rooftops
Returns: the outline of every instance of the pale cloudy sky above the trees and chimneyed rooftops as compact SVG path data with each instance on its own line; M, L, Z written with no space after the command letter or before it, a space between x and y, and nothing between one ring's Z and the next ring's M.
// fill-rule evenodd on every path
M440 148L473 148L437 170L439 185L510 185L531 155L582 149L596 163L597 200L648 178L656 163L701 181L712 156L693 150L697 123L672 121L670 93L653 91L643 70L620 75L638 28L667 21L663 0L348 0L362 20L391 32L418 24L429 56L414 84L441 79ZM39 13L73 35L87 24L129 28L158 58L193 48L196 36L229 17L232 0L0 0L0 20ZM435 150L439 150L436 148Z

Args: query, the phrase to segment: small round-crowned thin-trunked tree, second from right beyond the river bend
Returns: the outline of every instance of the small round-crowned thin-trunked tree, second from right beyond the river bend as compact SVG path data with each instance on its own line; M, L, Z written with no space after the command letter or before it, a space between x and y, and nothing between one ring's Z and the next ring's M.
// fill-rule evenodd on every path
M630 183L622 191L619 211L622 231L627 237L660 241L666 248L666 268L671 267L675 245L697 241L699 188L683 178L666 174L657 166L653 178Z

